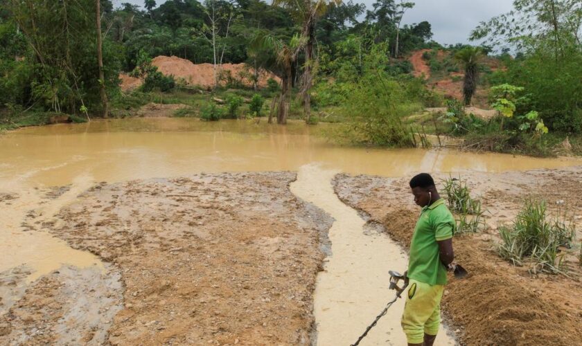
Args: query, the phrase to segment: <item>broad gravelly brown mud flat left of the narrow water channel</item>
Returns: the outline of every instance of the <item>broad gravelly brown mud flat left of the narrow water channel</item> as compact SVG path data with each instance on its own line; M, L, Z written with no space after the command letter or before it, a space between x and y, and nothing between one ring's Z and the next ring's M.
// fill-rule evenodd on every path
M107 344L309 345L332 220L294 197L294 179L276 172L100 183L44 226L121 275L121 311L96 328L107 327ZM39 280L17 303L35 315L12 307L2 316L10 338L0 340L48 320L42 338L28 340L67 341L60 316L86 293L55 294L67 285L59 278Z

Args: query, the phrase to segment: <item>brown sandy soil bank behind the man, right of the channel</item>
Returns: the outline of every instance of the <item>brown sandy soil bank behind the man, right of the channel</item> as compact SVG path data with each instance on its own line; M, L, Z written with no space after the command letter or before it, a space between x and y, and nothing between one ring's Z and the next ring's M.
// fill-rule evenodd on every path
M561 208L574 212L580 230L582 215L576 212L582 210L581 176L582 167L462 174L474 194L481 196L490 228L453 241L456 260L470 275L463 280L450 277L443 313L461 344L582 345L582 270L574 255L566 257L569 276L565 276L512 266L495 252L497 225L511 221L527 197L547 199L552 212L558 210L556 201L564 201ZM403 246L409 245L419 208L408 179L340 174L334 184L340 199L382 224Z

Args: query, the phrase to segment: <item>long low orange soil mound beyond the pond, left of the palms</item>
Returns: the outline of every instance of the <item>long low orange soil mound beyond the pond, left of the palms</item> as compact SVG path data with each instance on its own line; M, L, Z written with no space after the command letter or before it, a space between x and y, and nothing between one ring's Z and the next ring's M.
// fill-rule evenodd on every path
M202 86L210 88L214 86L214 66L213 64L194 64L190 60L182 59L180 57L166 57L160 55L152 60L152 65L157 66L158 71L164 75L173 75L177 80L184 80L187 85ZM246 86L252 86L252 82L247 76L254 74L254 69L249 68L245 64L222 64L217 66L217 75L220 83L226 83L227 76L230 75ZM141 85L141 80L132 78L128 75L121 74L121 89L123 91L130 91ZM267 80L273 78L280 82L280 78L273 73L265 70L259 71L258 86L263 88L267 86Z

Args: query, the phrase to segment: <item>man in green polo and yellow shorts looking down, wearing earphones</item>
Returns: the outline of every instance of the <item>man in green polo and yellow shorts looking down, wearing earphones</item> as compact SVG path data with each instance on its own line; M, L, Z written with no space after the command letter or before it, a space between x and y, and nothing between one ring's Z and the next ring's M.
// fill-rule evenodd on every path
M409 280L402 327L409 346L432 346L441 324L441 298L452 268L455 218L434 186L432 176L421 173L410 180L420 217L410 243Z

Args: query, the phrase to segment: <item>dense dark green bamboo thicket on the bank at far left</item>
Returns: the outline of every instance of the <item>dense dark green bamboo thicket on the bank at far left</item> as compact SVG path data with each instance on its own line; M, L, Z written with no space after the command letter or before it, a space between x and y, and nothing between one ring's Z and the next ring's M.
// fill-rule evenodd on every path
M0 20L0 99L9 91L13 95L3 101L27 108L76 113L85 104L99 111L94 1L4 1L0 7L9 14ZM107 40L103 63L101 83L112 97L120 62L117 47Z

